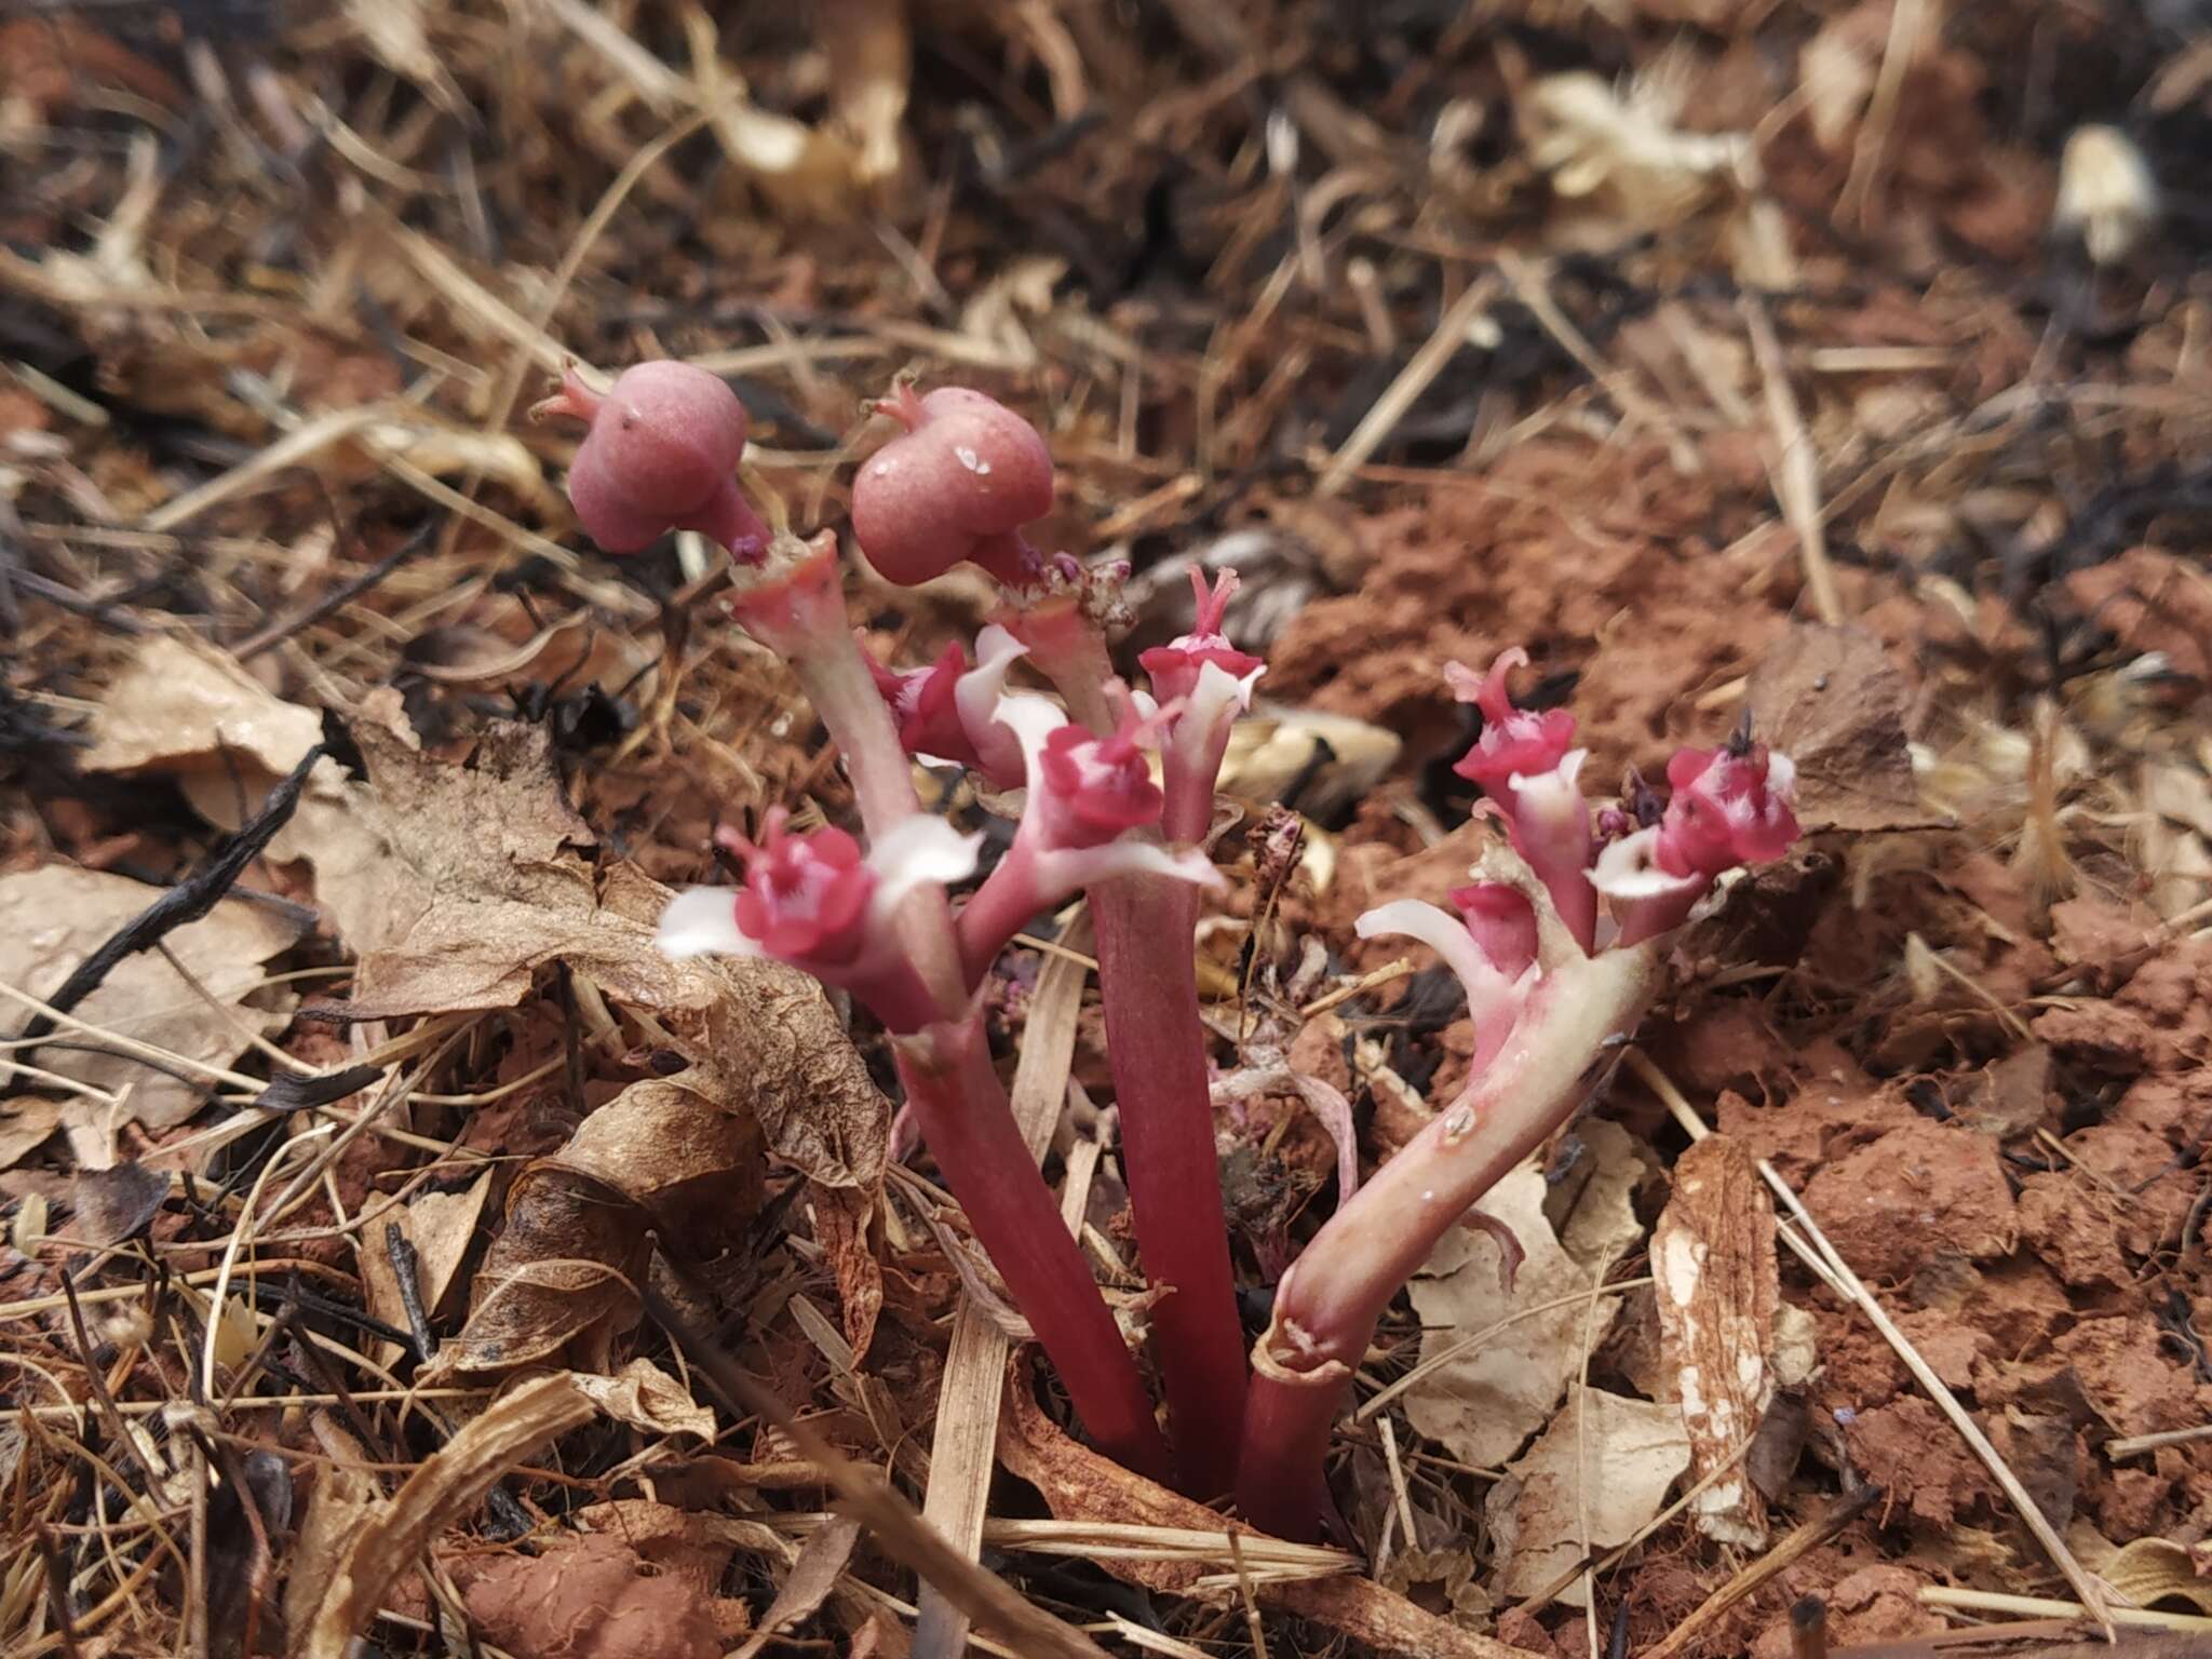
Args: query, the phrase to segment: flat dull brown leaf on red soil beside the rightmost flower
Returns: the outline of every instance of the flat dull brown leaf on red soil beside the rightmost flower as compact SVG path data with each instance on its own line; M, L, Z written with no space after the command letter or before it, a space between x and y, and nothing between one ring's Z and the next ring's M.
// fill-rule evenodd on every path
M1905 677L1865 628L1801 622L1752 670L1752 734L1796 763L1796 814L1823 830L1936 830L1907 748Z

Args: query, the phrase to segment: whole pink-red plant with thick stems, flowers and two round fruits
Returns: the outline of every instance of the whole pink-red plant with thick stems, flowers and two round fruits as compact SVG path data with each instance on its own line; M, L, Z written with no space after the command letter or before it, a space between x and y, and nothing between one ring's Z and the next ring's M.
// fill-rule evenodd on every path
M852 993L889 1033L909 1117L1088 1433L1139 1473L1232 1495L1254 1524L1312 1537L1332 1515L1329 1436L1383 1312L1447 1230L1586 1102L1697 902L1798 836L1792 765L1745 726L1717 750L1681 750L1666 803L1641 785L1593 803L1575 719L1513 703L1509 677L1526 653L1506 650L1482 675L1444 670L1482 714L1458 772L1504 834L1449 909L1385 902L1358 933L1416 940L1458 978L1475 1024L1469 1075L1356 1192L1347 1155L1336 1212L1248 1345L1214 1119L1234 1091L1212 1066L1192 951L1201 896L1221 887L1210 856L1221 761L1263 672L1225 633L1237 577L1194 577L1192 630L1146 650L1146 684L1130 686L1108 648L1121 573L1040 555L1024 533L1053 507L1044 438L962 387L898 387L876 407L900 434L854 478L860 553L891 582L962 562L1000 582L973 650L956 641L927 666L863 650L834 531L770 531L745 502L745 414L721 380L646 363L595 394L571 372L540 405L588 422L568 489L606 551L672 529L728 549L732 619L792 666L852 781L860 836L801 834L781 810L754 838L726 830L743 885L677 896L661 942L677 956L772 956ZM1057 697L1013 688L1018 664ZM993 801L1020 790L1011 845L980 883L982 836L920 807L916 757L971 770ZM1029 1157L984 1033L982 993L1006 945L1077 894L1097 933L1164 1413ZM1517 1248L1502 1243L1511 1265Z

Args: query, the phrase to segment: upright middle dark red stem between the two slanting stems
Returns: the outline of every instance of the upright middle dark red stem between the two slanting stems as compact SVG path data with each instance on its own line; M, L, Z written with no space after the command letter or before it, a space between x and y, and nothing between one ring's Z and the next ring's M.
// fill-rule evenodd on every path
M1245 1343L1214 1155L1212 1079L1192 960L1197 889L1124 876L1091 889L1106 1060L1144 1274L1175 1290L1152 1310L1177 1473L1199 1498L1237 1478Z

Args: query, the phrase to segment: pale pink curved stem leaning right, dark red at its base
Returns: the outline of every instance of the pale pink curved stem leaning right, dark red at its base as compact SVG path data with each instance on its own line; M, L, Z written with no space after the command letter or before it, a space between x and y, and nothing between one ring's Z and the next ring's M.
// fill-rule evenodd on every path
M1608 1037L1635 1031L1657 984L1652 945L1546 973L1475 1086L1376 1170L1292 1263L1252 1352L1237 1498L1254 1526L1316 1533L1329 1425L1383 1310L1438 1239L1582 1106L1590 1062Z

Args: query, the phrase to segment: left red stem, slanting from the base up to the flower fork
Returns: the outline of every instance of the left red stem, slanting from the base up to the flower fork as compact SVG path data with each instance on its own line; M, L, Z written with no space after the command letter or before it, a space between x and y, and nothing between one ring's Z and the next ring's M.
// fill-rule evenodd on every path
M967 1210L1015 1307L1029 1318L1075 1402L1117 1462L1152 1480L1168 1473L1168 1442L1137 1363L1082 1250L1013 1121L984 1051L982 1022L940 1024L898 1040L898 1075L929 1150Z

